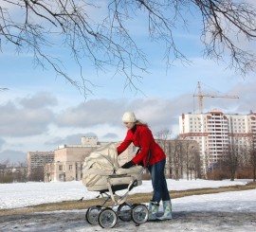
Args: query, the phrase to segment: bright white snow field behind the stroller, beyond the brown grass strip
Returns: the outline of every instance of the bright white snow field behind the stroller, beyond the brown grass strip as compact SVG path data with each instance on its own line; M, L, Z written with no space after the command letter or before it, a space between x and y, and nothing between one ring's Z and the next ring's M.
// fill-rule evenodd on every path
M248 180L207 181L207 180L167 180L169 190L186 190L202 187L226 187L246 185ZM121 195L126 190L119 191ZM151 181L143 181L129 194L137 192L152 192ZM97 191L88 191L82 182L27 182L15 184L0 184L0 209L39 205L44 203L62 202L68 200L92 199L99 195Z

